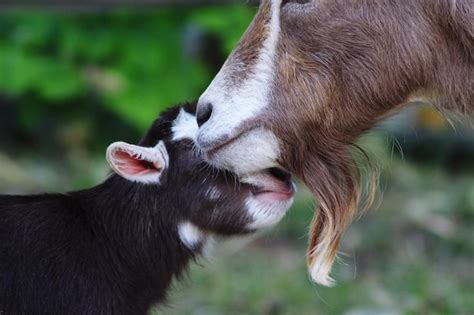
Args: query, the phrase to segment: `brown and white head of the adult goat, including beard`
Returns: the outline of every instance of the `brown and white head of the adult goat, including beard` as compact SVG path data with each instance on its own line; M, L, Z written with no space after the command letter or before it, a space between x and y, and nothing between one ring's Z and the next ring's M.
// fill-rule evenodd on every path
M347 109L335 104L341 95L329 54L340 48L326 46L324 36L332 34L317 38L323 26L316 19L318 6L316 1L262 1L199 101L198 144L217 167L241 175L283 167L305 182L320 202L308 256L311 276L328 285L358 187L346 146L355 133L346 132Z

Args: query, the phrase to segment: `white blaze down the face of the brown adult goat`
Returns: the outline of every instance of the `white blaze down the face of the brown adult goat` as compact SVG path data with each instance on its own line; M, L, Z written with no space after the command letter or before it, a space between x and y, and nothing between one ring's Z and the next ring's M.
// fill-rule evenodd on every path
M252 74L248 79L238 88L229 84L229 80L235 80L229 78L229 72L232 73L232 68L239 65L230 64L232 59L228 59L199 99L199 104L212 104L213 110L211 119L200 130L199 143L212 143L223 136L232 136L242 122L256 117L268 105L280 34L280 4L281 0L272 1L268 37L264 40L254 69L249 70Z

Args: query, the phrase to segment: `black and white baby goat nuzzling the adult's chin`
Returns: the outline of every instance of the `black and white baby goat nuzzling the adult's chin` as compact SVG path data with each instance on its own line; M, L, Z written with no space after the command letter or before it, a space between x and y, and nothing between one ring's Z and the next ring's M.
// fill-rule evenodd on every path
M290 178L210 170L194 113L171 109L139 145L112 144L116 174L92 189L0 196L0 314L146 314L214 235L283 217Z

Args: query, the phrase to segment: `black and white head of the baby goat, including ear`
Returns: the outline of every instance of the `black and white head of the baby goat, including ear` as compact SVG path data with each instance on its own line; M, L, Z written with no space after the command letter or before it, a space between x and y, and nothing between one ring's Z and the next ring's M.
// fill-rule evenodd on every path
M213 169L194 145L196 104L164 112L138 145L116 142L107 150L115 173L137 185L156 187L154 204L166 211L190 248L208 235L252 232L278 223L293 202L294 185L284 171L269 169L237 178ZM150 202L143 200L143 203Z

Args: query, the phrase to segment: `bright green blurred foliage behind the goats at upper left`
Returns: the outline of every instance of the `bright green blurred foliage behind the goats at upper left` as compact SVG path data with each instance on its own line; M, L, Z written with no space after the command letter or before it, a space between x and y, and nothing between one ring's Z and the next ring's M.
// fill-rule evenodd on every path
M214 75L186 51L186 33L214 34L225 56L253 14L248 6L2 13L0 93L19 99L24 128L38 121L38 107L67 112L68 104L94 102L143 131Z

